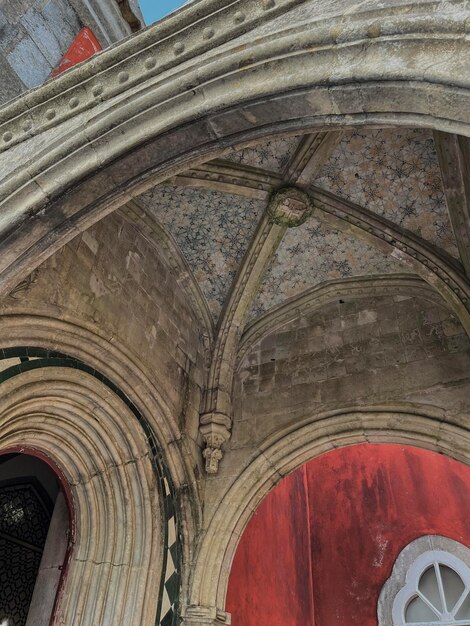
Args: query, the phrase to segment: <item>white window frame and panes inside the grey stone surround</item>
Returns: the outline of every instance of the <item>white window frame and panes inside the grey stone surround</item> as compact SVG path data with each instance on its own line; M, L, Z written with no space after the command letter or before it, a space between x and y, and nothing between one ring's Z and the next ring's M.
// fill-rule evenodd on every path
M442 550L430 550L410 567L393 603L394 626L470 626L470 569Z

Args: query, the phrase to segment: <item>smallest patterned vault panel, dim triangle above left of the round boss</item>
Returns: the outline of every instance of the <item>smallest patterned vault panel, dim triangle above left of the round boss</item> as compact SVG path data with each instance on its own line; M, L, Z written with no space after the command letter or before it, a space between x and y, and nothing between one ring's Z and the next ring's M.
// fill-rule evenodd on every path
M224 159L250 165L276 174L282 174L299 145L300 137L271 139L224 155Z

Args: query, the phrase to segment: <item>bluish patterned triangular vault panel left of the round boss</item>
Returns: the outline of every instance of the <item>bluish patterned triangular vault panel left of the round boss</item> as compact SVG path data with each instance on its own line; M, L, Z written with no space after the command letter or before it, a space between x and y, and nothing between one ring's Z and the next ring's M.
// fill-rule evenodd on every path
M139 200L176 239L217 319L265 202L166 184Z

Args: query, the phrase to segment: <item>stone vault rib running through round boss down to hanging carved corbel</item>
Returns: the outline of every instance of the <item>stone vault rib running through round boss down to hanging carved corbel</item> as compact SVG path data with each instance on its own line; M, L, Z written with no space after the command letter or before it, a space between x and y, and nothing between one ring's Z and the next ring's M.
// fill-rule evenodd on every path
M216 474L223 446L232 427L231 393L237 349L246 316L264 272L288 228L305 222L313 209L311 195L298 186L308 171L318 169L337 145L340 133L317 133L305 138L294 155L284 186L274 190L258 224L243 265L232 285L220 322L206 387L199 431L204 440L203 457L208 474Z

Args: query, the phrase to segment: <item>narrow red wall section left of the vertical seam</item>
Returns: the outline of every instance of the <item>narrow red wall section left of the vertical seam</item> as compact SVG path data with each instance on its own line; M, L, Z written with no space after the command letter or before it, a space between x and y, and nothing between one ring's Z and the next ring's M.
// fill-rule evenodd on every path
M305 480L301 469L279 483L243 534L227 600L235 626L313 626Z

